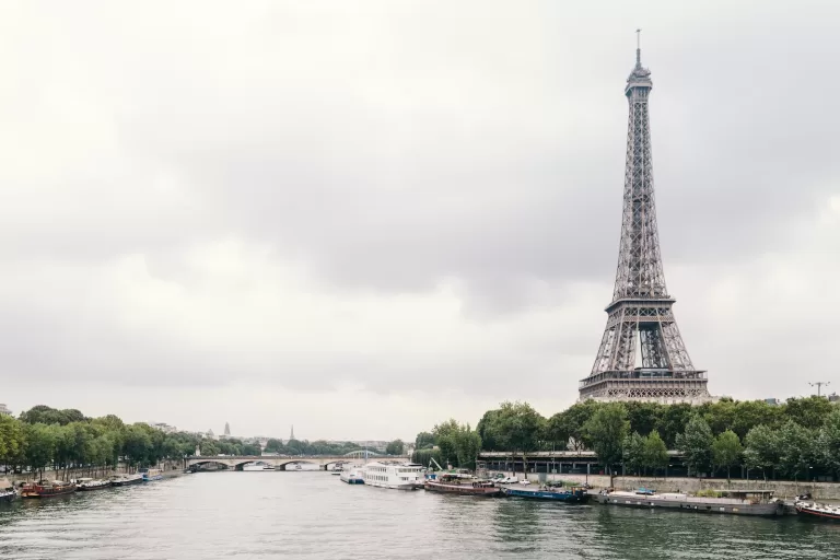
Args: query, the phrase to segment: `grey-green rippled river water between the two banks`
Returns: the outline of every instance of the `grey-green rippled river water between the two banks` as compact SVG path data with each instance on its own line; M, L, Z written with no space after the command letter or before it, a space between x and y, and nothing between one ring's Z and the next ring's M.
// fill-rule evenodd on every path
M840 523L569 506L199 472L0 504L2 559L832 559Z

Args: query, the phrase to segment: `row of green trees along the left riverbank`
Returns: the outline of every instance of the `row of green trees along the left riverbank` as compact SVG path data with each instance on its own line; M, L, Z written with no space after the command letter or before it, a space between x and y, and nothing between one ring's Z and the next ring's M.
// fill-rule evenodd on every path
M290 455L339 455L361 447L353 443L291 440L283 444L269 440L267 451ZM67 478L69 469L91 475L124 466L158 465L202 456L260 455L260 446L236 439L212 440L195 433L165 433L144 422L125 423L108 415L85 417L75 409L55 409L44 405L22 412L19 418L0 415L0 465L12 472L30 470L44 475L52 468Z

